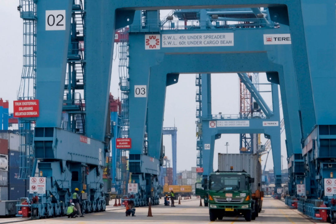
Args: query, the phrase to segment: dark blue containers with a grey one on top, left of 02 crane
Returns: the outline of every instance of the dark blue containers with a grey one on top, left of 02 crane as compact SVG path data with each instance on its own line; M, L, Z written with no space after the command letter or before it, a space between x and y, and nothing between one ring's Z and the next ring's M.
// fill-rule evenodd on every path
M21 180L20 178L20 135L14 131L0 132L0 139L7 141L6 149L1 149L0 154L6 151L8 168L6 171L7 184L3 186L4 181L0 180L0 200L18 200L20 197L28 196L27 187L29 182ZM1 142L3 141L1 140ZM0 143L1 145L1 143ZM0 146L1 147L1 146ZM4 146L3 146L4 147ZM1 158L0 158L1 160ZM1 163L1 162L0 162ZM1 170L3 171L3 170ZM1 173L2 180L4 180L4 173ZM1 177L0 177L1 179ZM6 194L6 197L3 196ZM2 199L2 196L4 199Z

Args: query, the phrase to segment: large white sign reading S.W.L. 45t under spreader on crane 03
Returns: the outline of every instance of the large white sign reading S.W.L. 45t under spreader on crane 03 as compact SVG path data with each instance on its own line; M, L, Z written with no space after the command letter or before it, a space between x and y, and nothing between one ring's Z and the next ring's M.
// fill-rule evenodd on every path
M234 46L234 33L162 34L162 47Z

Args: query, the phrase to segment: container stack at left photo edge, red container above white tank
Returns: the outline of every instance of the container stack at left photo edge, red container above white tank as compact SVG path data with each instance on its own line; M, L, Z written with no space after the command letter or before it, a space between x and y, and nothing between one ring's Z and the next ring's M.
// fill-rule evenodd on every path
M8 200L8 140L0 138L0 200Z

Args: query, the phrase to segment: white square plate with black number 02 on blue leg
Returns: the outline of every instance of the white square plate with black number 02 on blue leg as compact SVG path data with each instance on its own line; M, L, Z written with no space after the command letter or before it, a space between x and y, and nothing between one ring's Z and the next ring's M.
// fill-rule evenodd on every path
M65 30L65 10L45 11L45 30Z

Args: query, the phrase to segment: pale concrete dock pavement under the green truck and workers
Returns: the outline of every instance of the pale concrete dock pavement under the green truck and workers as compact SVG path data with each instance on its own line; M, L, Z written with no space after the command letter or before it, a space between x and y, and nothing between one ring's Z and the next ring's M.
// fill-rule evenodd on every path
M162 201L163 202L163 201ZM139 223L139 224L209 224L209 223L228 223L242 224L247 223L243 217L224 217L223 220L209 221L208 207L199 207L199 199L193 197L189 200L181 200L181 205L176 207L168 207L164 205L152 206L153 217L147 217L148 207L136 208L135 217L126 217L124 207L108 206L106 212L85 214L85 218L68 219L67 217L58 217L51 219L21 221L19 218L12 218L15 223L24 224L111 224L111 223ZM13 220L15 219L15 220ZM9 223L6 219L1 218L0 223ZM10 222L13 223L13 222ZM259 217L250 223L255 224L307 224L323 222L307 219L297 210L288 208L281 200L273 198L264 198L263 211L259 213Z

